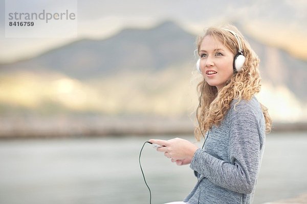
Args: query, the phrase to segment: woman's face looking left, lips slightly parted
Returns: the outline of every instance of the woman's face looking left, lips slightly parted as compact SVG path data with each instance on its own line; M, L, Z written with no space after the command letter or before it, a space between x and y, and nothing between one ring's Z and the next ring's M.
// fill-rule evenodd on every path
M200 56L200 67L206 82L219 91L233 74L234 54L220 41L207 35L201 43Z

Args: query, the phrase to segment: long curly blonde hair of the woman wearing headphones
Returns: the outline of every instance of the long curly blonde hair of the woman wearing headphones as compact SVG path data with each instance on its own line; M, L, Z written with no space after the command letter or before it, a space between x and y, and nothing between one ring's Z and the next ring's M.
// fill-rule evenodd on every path
M198 53L200 53L200 47L204 37L210 35L228 47L236 55L238 52L237 39L232 33L224 29L229 29L237 33L242 43L246 61L242 71L233 72L232 77L220 91L217 91L215 86L210 86L205 80L198 84L198 92L203 92L199 98L200 106L196 110L196 119L198 119L199 125L196 125L194 135L198 141L203 136L203 132L208 131L213 125L218 126L221 124L233 99L237 99L237 103L241 99L250 100L254 94L260 91L261 87L261 78L258 69L260 60L234 25L226 25L223 28L208 28L205 35L198 38ZM268 109L264 105L260 105L266 121L266 132L269 133L271 131L272 121Z

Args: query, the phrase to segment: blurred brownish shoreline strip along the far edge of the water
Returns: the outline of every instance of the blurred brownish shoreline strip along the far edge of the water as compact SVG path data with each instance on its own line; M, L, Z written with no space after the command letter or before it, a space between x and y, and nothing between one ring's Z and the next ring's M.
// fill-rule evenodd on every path
M189 118L158 117L0 117L0 139L108 137L144 135L192 135ZM304 132L307 122L274 122L274 132Z

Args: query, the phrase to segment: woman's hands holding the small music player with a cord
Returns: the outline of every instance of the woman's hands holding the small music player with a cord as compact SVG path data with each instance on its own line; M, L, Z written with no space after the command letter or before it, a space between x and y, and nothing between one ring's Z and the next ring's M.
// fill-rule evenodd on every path
M154 140L149 142L159 144L162 147L157 148L157 151L164 152L165 157L172 159L178 165L189 164L194 156L197 146L181 138L174 138L171 140Z

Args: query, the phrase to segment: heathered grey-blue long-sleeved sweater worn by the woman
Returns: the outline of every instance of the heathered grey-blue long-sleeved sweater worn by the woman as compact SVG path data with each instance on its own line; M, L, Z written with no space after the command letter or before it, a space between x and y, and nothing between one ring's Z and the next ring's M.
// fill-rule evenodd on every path
M209 130L190 168L199 179L184 199L198 203L252 203L265 146L265 118L257 99L237 100L220 126ZM236 104L236 105L235 105Z

